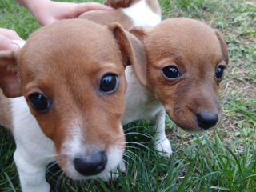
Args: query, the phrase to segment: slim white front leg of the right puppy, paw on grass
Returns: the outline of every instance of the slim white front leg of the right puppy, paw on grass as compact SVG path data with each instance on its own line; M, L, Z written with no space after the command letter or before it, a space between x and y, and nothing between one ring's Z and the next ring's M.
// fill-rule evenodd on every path
M170 158L172 154L170 142L168 138L166 138L166 112L161 110L159 111L154 118L150 119L150 122L153 125L153 129L156 130L156 134L154 136L154 149L159 151L159 154L163 157Z

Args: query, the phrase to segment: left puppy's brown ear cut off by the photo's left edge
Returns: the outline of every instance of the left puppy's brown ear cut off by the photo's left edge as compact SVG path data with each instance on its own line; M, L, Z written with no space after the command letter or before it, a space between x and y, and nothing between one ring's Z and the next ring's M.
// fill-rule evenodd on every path
M22 96L14 51L0 51L0 88L7 98Z

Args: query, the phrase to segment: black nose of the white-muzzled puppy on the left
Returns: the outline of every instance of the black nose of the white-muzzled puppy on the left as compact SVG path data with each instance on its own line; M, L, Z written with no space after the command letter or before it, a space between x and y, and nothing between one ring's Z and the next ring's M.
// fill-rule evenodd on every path
M99 151L93 154L90 159L86 158L75 158L74 168L79 174L84 176L90 176L99 174L105 169L107 162L107 155L105 151Z

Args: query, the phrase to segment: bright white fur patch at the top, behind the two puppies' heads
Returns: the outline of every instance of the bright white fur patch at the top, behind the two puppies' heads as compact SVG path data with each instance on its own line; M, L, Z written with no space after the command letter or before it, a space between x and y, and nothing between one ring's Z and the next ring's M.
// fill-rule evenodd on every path
M131 18L133 26L156 26L161 22L161 16L155 14L153 10L142 0L122 11Z

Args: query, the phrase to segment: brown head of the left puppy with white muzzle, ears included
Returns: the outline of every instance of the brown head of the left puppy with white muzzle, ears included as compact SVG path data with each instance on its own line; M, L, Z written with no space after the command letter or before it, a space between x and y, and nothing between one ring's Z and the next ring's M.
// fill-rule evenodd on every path
M107 178L122 160L124 67L136 57L128 36L116 24L66 20L34 32L18 52L0 52L4 94L26 98L70 178Z

